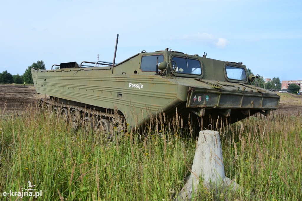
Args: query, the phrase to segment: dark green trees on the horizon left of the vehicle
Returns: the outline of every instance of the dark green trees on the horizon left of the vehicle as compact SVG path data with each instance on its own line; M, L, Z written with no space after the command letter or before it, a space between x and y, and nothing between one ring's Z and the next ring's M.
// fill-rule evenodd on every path
M28 66L22 75L19 75L19 74L12 75L12 74L8 73L7 71L3 71L2 73L0 73L0 83L2 83L2 84L11 84L11 83L23 84L24 82L26 82L27 84L33 84L34 81L31 76L32 68L45 70L45 64L42 60L37 61L37 62L33 63L31 66Z

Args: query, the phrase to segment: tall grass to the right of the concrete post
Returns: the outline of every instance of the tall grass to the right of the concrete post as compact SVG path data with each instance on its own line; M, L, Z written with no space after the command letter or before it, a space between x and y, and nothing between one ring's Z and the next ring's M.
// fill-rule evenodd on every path
M255 115L227 129L226 174L243 200L302 200L302 116Z

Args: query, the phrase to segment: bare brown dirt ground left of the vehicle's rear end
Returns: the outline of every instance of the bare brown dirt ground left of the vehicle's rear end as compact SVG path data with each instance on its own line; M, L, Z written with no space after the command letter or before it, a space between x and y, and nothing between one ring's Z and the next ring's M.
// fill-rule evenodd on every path
M36 105L40 98L34 85L0 84L0 115L21 113L29 105Z

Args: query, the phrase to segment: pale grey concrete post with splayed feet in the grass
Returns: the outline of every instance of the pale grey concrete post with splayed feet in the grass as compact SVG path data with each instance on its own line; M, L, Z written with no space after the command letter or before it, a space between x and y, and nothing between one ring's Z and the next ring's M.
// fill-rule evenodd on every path
M224 174L221 141L217 131L199 132L191 175L174 200L190 200L193 191L197 192L200 177L203 178L204 187L208 189L213 186L231 186L233 190L240 188Z

